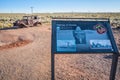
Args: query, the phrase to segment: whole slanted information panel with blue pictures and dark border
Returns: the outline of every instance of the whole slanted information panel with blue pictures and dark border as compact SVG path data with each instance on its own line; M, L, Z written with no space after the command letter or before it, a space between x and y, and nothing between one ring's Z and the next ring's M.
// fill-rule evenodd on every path
M53 19L53 52L115 52L108 19Z

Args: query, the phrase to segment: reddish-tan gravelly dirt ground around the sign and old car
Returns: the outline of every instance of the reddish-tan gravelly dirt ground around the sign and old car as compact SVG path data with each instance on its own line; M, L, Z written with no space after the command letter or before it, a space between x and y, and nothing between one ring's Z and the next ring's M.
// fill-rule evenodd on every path
M113 32L120 45L120 31ZM56 54L55 80L109 80L111 60L111 54ZM51 80L49 25L0 31L0 80Z

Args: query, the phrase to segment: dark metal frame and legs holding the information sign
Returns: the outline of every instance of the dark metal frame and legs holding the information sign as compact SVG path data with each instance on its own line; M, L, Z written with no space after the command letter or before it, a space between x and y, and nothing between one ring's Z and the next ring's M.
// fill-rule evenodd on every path
M105 21L107 22L107 31L108 31L108 37L111 41L111 45L112 45L112 48L113 48L113 51L81 51L81 52L61 52L61 51L57 51L56 49L56 24L59 22L59 21L84 21L84 22L87 22L87 21ZM116 45L116 42L114 40L114 36L113 36L113 33L112 33L112 29L110 27L110 20L107 19L107 18L53 18L52 19L52 38L51 38L51 80L55 80L55 77L54 77L54 74L55 74L55 71L54 71L54 56L55 54L89 54L89 53L92 53L92 54L101 54L101 53L112 53L113 54L113 57L112 57L112 65L111 65L111 73L110 73L110 80L115 80L115 74L116 74L116 68L117 68L117 63L118 63L118 57L119 57L119 51L118 51L118 48L117 48L117 45Z

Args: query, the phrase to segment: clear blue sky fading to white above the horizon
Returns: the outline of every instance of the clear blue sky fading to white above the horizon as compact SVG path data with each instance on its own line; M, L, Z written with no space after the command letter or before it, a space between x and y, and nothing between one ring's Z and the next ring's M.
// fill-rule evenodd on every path
M0 13L120 12L120 0L0 0Z

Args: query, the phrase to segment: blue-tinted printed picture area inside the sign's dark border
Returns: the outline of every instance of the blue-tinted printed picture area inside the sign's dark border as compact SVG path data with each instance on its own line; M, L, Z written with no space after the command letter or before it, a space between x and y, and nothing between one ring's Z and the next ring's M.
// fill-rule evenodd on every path
M57 51L80 52L91 50L113 50L107 29L102 24L81 26L78 24L58 24Z

